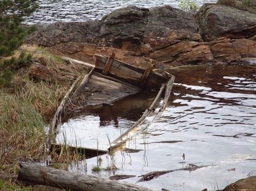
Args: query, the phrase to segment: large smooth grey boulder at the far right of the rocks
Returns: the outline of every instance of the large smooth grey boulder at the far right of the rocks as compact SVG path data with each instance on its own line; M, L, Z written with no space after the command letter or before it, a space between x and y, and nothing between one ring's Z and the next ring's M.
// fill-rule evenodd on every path
M219 37L249 38L256 34L256 14L248 10L206 3L196 19L204 41Z

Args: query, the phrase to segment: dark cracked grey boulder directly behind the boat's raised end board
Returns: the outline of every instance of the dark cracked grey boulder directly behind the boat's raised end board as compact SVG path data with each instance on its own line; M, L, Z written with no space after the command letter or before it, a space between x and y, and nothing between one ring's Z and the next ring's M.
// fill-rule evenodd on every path
M149 9L132 5L104 16L99 34L99 38L104 38L102 45L122 47L127 41L135 45L141 44L148 11Z

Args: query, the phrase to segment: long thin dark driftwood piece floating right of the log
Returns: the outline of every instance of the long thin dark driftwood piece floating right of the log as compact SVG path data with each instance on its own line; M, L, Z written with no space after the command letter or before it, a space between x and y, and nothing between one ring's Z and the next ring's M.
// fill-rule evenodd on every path
M139 177L140 180L138 182L145 182L145 181L150 181L153 178L156 178L158 176L170 173L170 172L175 172L175 171L180 171L180 170L188 170L188 171L193 171L193 170L197 170L197 169L201 169L203 167L207 167L207 166L196 166L196 165L192 165L186 168L182 168L182 169L175 169L175 170L163 170L163 171L154 171L154 172L149 172L145 175L141 175Z

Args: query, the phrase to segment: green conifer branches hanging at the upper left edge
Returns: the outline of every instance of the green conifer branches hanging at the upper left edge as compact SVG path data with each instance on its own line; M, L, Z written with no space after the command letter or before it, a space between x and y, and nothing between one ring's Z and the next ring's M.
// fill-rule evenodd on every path
M23 43L29 27L21 26L21 22L36 8L36 0L0 0L0 87L10 84L14 65L27 57L21 53L19 58L3 59Z

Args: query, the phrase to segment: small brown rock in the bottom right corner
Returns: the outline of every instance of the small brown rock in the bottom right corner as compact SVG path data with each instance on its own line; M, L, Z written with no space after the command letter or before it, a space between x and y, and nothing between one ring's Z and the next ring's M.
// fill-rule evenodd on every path
M223 191L256 191L256 176L244 178L229 184Z

